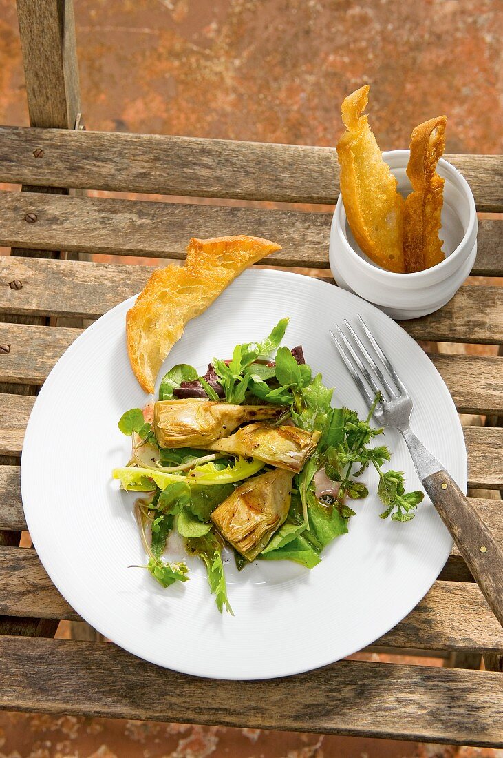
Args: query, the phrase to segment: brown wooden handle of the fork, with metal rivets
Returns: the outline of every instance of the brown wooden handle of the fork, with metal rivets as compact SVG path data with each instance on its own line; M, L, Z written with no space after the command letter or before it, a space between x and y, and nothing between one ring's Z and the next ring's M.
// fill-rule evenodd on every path
M496 542L447 471L430 474L423 479L423 487L503 626L503 546Z

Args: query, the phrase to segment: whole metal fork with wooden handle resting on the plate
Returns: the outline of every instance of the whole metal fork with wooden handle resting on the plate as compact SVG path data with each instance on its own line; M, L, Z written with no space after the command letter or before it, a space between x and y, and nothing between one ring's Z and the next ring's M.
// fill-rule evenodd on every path
M369 409L376 393L380 393L381 399L374 408L374 418L380 426L395 427L401 432L424 490L452 534L498 622L503 626L503 548L492 537L442 463L411 431L409 423L414 407L411 396L365 321L359 314L357 317L369 347L365 347L346 319L344 325L352 343L343 330L336 326L337 337L330 330L335 346Z

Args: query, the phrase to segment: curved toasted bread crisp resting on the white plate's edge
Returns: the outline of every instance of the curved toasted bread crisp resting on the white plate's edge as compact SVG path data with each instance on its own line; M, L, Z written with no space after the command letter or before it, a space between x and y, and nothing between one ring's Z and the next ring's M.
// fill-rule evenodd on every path
M259 237L193 237L185 265L154 271L126 316L129 360L146 392L154 392L157 373L185 324L203 313L245 268L275 250L281 246Z

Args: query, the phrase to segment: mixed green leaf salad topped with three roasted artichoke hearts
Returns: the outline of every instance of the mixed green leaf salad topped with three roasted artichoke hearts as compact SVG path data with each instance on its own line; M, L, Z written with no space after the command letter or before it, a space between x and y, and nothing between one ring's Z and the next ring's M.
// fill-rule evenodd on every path
M371 445L383 431L369 423L373 409L362 420L333 408L333 390L312 375L302 347L280 347L287 324L261 343L235 346L230 360L213 359L204 376L175 365L159 399L119 421L132 457L113 478L144 493L135 503L144 568L163 587L188 581L185 562L163 557L177 531L206 566L220 612L232 613L223 547L239 570L256 559L314 568L348 531L352 504L368 495L359 477L369 465L379 475L380 518L407 522L423 500L405 492L401 471L383 471L390 452Z

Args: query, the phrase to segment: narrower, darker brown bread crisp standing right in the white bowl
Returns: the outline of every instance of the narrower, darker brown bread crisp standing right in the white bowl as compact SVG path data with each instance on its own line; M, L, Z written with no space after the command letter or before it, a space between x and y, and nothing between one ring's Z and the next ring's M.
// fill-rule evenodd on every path
M446 116L430 118L411 134L407 176L413 191L404 208L405 271L423 271L445 258L439 238L444 180L436 174L436 164L446 146L446 124Z

